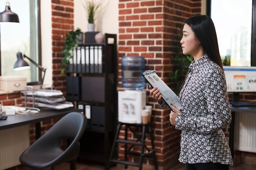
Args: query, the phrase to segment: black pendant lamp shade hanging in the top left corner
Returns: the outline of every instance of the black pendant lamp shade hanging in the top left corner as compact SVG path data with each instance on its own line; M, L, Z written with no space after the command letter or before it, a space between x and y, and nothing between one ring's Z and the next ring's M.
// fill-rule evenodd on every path
M9 2L6 2L5 10L0 13L0 22L20 22L18 15L11 11Z

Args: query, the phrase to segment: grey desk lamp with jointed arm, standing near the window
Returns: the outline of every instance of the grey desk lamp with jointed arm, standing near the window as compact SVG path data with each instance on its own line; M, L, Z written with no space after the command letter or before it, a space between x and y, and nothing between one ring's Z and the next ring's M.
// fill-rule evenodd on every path
M18 52L17 53L17 61L15 62L14 64L14 67L13 67L13 70L14 71L19 71L19 70L25 70L25 69L28 69L30 68L29 64L23 60L24 58L27 58L32 64L34 64L35 66L37 66L40 71L43 71L43 78L42 78L42 82L41 82L41 85L40 85L40 89L42 88L43 86L43 81L45 79L45 71L46 71L46 68L40 66L39 64L37 64L35 61L31 60L29 57L27 57L25 54L22 56L22 53Z

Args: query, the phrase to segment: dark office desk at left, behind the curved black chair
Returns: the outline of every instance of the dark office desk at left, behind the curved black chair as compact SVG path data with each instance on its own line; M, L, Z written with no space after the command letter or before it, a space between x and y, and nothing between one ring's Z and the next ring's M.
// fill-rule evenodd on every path
M15 128L18 126L28 125L28 124L36 124L36 139L38 139L41 135L41 126L40 121L45 121L49 119L54 119L58 117L63 117L67 113L78 111L75 108L65 108L62 110L54 110L48 108L40 108L40 112L37 114L16 114L16 115L9 115L6 120L0 121L0 130ZM5 115L5 113L2 113Z

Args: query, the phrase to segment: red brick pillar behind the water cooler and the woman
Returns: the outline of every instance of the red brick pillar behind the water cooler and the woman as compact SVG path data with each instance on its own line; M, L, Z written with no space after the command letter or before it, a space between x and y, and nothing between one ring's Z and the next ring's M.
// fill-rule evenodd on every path
M119 87L121 57L130 55L143 56L146 70L156 70L171 85L168 79L173 66L171 56L180 51L179 33L182 31L183 21L200 12L200 0L119 0ZM148 93L148 88L146 90ZM158 104L148 95L147 105L153 106L151 120L158 166L168 170L178 161L180 131L171 126L168 116L170 111L158 110ZM150 146L148 136L146 144ZM124 150L120 151L119 157L124 159ZM144 163L153 165L151 159Z

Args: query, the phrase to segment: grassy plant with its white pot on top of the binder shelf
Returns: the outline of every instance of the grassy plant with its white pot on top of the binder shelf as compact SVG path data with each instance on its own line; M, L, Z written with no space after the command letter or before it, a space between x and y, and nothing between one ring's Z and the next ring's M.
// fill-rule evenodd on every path
M85 0L85 2L86 6L84 6L84 8L88 17L88 32L94 32L94 20L96 19L95 15L97 14L100 3L94 2L94 0Z

